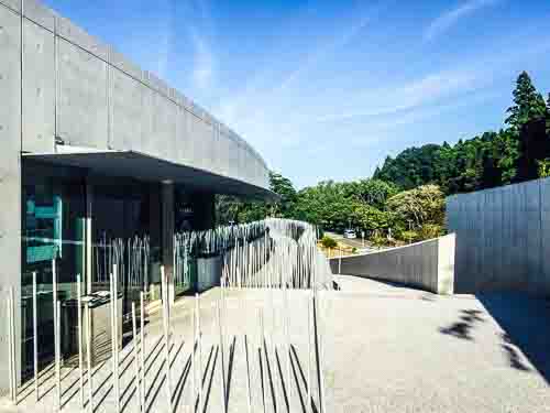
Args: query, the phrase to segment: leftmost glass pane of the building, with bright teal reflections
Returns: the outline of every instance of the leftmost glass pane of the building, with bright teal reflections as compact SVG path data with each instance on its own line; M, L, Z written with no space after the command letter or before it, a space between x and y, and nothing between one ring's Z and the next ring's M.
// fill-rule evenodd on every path
M23 163L22 186L22 372L32 371L32 279L36 273L38 359L54 355L52 262L56 260L58 296L75 295L85 269L85 182L82 171Z

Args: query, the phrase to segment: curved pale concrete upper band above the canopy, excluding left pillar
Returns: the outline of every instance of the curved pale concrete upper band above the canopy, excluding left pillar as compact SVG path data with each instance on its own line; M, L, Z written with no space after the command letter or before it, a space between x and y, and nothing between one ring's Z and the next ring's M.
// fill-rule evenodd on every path
M40 2L0 3L23 15L23 152L143 153L268 188L262 156L189 98Z

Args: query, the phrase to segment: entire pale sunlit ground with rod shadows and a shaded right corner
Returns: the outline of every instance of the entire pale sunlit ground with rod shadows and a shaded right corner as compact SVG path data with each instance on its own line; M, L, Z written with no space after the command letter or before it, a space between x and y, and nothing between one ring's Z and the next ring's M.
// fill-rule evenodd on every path
M315 341L310 351L314 412L321 406L318 389L322 383L327 412L550 412L548 302L514 295L437 296L345 275L337 282L340 291L320 297L322 379L317 374ZM201 374L198 369L196 374L197 382L202 376L200 412L223 412L218 297L219 289L201 297L202 366ZM282 293L258 290L228 292L223 311L228 412L249 411L248 371L250 411L264 412L264 395L265 412L307 411L307 303L304 291L289 293L288 300ZM173 406L184 413L193 405L193 297L180 298L172 317ZM288 335L283 323L286 315ZM151 317L146 334L146 411L168 412L160 314ZM260 351L265 348L267 365L265 352ZM123 412L139 411L131 349L132 345L127 346L120 356ZM0 401L0 411L53 412L55 390L50 373L43 374L43 398L37 404L32 385L26 384L18 406ZM97 413L116 411L110 373L110 362L95 371ZM62 377L63 411L81 411L78 370L63 369Z

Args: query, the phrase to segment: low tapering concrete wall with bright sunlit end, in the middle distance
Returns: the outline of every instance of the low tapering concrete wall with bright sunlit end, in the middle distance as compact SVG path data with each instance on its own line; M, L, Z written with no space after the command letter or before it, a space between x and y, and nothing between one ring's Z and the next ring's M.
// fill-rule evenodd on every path
M452 294L454 233L360 256L330 260L332 273L367 276L418 286L437 294Z

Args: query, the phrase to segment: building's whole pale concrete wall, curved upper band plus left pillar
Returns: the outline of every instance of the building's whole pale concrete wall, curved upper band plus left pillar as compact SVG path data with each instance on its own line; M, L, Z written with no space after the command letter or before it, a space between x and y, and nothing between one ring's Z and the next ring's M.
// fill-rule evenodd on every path
M268 170L227 126L36 0L0 0L0 99L2 395L3 293L13 287L20 302L22 152L51 154L57 143L134 151L263 189ZM19 343L19 311L15 329Z

